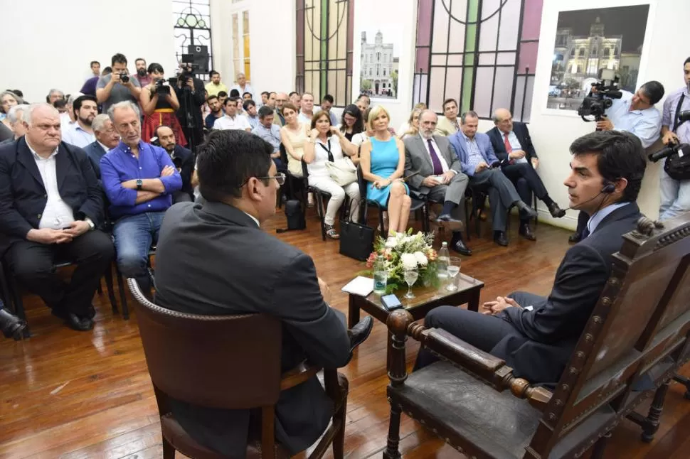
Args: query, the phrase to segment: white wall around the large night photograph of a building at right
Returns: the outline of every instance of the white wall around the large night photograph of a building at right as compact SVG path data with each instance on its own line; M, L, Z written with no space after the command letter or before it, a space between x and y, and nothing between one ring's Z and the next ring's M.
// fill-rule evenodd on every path
M539 175L551 197L561 205L568 204L563 179L568 174L570 153L568 147L573 139L593 131L593 123L583 122L574 112L558 113L546 109L546 93L551 75L553 43L556 38L558 11L573 9L608 8L630 4L650 4L649 21L642 48L642 62L637 84L658 80L664 85L666 94L683 85L683 62L690 55L686 38L687 18L690 17L688 0L547 0L544 1L541 18L541 35L537 58L534 98L532 100L529 131L540 158ZM662 102L657 104L662 109ZM487 123L487 127L491 123ZM649 148L654 151L659 144ZM658 217L659 210L659 167L647 164L638 204L647 217ZM554 225L574 228L577 212L568 211L563 219L552 219L546 207L540 202L540 217Z

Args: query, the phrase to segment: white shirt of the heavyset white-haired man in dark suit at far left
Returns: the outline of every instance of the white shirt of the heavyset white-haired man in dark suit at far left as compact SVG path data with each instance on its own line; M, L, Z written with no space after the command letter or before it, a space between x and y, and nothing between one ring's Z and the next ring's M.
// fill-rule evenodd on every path
M63 229L70 226L74 222L74 211L72 207L67 205L60 197L58 190L58 173L55 169L55 155L58 154L58 148L51 153L48 158L41 158L38 153L31 148L31 145L26 142L26 146L31 150L38 173L41 174L43 180L43 188L46 188L46 208L43 209L41 220L38 222L38 228Z

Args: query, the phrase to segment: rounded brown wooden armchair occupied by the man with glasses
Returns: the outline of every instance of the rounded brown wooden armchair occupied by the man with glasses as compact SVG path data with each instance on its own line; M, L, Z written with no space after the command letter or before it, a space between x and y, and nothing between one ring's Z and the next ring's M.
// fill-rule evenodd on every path
M247 458L287 458L275 441L275 404L280 392L314 377L321 368L302 362L280 374L282 328L265 314L195 315L161 308L144 297L137 281L127 279L137 299L137 321L161 416L163 457L176 450L196 459L222 455L191 438L169 409L169 397L218 409L261 411L259 441L248 441ZM348 381L324 369L325 389L334 403L331 424L309 458L321 458L329 446L343 458Z

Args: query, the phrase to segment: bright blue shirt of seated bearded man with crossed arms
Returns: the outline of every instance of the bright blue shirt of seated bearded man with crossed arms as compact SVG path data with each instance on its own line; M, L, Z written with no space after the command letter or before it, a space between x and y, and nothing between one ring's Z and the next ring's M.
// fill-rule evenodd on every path
M174 173L161 177L165 166L173 168ZM100 173L105 195L110 200L110 217L114 219L144 212L163 212L172 205L171 193L182 188L182 178L169 154L163 148L143 141L139 141L139 158L121 141L101 158ZM137 190L124 188L122 182L139 178L159 178L165 192L157 198L137 204Z

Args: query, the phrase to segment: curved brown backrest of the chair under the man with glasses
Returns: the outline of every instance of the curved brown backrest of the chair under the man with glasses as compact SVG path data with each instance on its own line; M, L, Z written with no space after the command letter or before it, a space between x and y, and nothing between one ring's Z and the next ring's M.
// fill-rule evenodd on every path
M149 302L134 279L127 284L139 303L139 333L156 389L176 400L220 409L277 402L279 320L265 314L180 313Z

